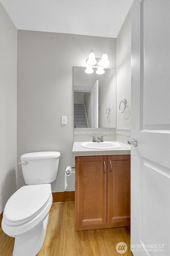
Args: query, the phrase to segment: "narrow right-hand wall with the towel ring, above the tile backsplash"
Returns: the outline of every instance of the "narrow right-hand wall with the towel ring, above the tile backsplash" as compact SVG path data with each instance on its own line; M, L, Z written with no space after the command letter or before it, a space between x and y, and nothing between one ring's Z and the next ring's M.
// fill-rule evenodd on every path
M117 68L117 128L130 128L131 106L131 10L116 39ZM124 113L120 113L119 104L126 98ZM123 107L123 103L121 103Z

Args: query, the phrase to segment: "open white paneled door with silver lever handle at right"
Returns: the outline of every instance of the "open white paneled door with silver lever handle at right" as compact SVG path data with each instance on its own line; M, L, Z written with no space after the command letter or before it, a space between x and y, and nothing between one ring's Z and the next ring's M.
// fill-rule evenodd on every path
M169 0L131 6L131 250L169 256ZM143 245L142 245L143 244Z

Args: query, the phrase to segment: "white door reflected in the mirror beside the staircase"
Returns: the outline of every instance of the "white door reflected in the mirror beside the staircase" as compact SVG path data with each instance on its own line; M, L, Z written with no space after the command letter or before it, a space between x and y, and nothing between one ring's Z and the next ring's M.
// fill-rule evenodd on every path
M91 91L91 127L98 128L98 80L96 80Z

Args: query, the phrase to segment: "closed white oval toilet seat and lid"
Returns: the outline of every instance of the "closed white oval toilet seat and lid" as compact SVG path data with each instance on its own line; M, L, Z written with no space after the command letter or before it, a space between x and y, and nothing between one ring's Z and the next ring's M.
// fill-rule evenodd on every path
M50 184L21 187L6 203L4 222L9 226L18 226L30 221L45 208L50 196Z

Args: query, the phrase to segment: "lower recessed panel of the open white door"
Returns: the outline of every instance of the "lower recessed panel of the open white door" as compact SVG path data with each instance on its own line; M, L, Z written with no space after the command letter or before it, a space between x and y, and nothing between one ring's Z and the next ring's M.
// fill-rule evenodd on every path
M163 244L168 251L168 237L164 230L170 225L168 219L170 169L146 158L142 158L141 165L140 200L142 204L140 207L139 241L143 245ZM158 219L159 222L157 222ZM157 230L159 230L159 235L155 236ZM152 255L152 252L147 250L145 252L148 256ZM155 252L154 255L159 255L159 253Z

